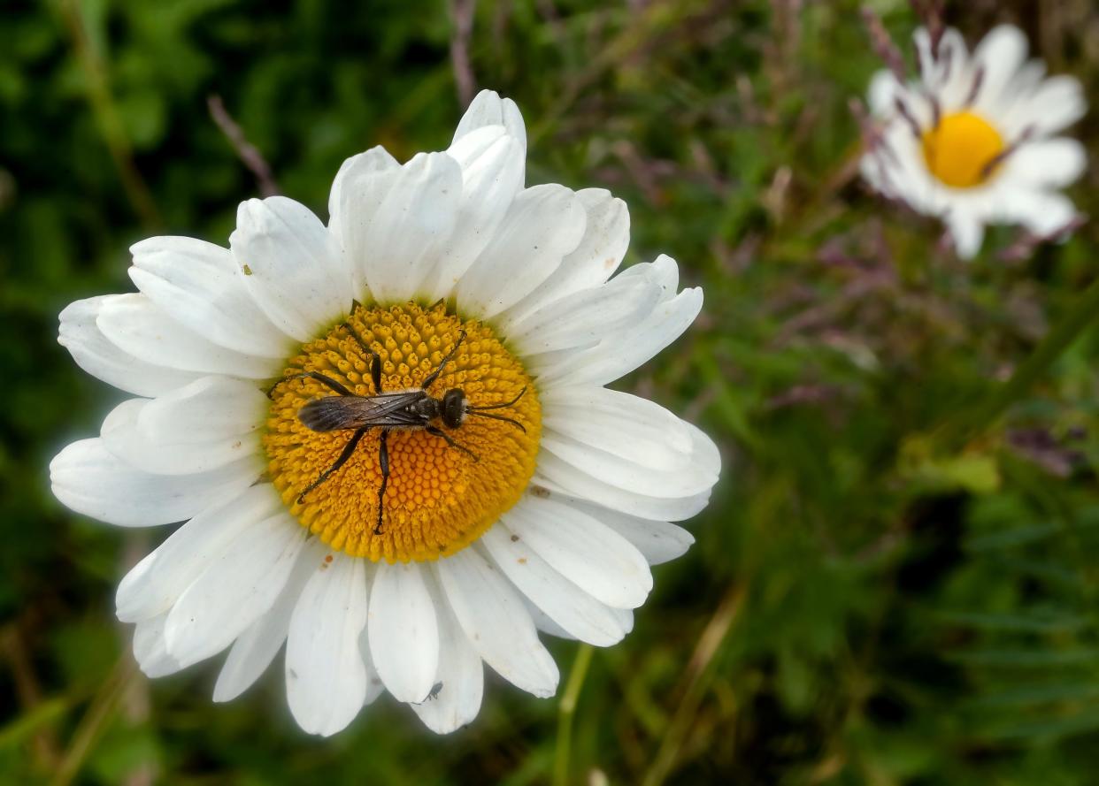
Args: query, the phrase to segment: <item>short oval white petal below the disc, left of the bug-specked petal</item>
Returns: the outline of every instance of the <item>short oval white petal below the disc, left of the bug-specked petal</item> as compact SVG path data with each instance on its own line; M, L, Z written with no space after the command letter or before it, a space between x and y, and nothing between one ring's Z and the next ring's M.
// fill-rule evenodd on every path
M422 701L446 653L440 653L435 605L419 564L378 565L367 626L370 655L386 689L398 701Z

